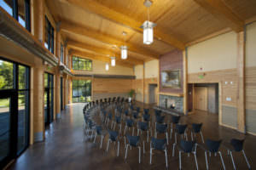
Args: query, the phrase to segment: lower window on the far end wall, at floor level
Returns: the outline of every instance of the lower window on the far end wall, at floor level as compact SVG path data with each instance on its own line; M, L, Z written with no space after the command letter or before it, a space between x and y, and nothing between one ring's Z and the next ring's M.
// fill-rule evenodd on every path
M90 80L73 80L73 102L89 102L91 95L91 81Z

